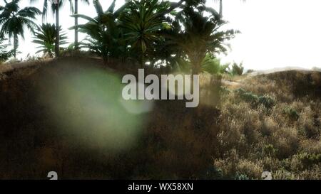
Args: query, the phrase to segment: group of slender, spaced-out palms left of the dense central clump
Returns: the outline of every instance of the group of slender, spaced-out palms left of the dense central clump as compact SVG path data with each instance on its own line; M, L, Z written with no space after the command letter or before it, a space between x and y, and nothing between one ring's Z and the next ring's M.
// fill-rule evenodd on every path
M43 45L43 50L52 55L52 47L54 46L56 56L59 55L59 45L66 43L64 40L65 37L60 36L61 26L59 26L59 8L66 3L64 0L44 0L44 7L43 11L40 11L36 7L26 7L24 9L20 9L19 3L21 0L13 0L13 1L6 1L4 0L5 5L0 6L0 37L8 36L9 41L13 38L14 40L14 49L13 55L16 58L17 48L19 46L19 36L24 38L24 28L28 28L29 31L35 33L36 31L41 31L42 36L39 33L35 33L36 38L34 43L40 43ZM37 0L30 0L31 3ZM78 0L73 1L68 0L71 6L71 11L74 14L78 14ZM89 0L82 0L89 4ZM73 9L74 5L74 9ZM56 16L56 25L50 26L48 23L43 24L42 26L37 26L34 22L36 20L36 16L42 14L43 21L48 14L48 10L52 9L54 15ZM78 25L78 17L75 17L75 25ZM51 28L51 29L50 29ZM55 28L54 34L52 33L52 28ZM49 33L50 31L50 33ZM58 38L57 38L58 37ZM63 41L60 39L63 38ZM53 42L54 40L54 42ZM75 29L75 48L78 47L78 31Z

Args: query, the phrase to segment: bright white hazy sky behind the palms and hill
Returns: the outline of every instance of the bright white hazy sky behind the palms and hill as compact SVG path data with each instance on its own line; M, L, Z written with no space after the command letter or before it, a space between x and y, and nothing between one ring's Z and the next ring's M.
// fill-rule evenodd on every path
M124 0L118 0L118 6L123 2ZM247 0L246 3L225 0L223 3L224 18L230 21L227 27L242 32L230 42L232 51L221 57L223 62L243 61L245 68L255 70L286 66L321 68L320 0ZM101 0L101 4L107 9L111 0ZM42 10L41 0L32 5ZM30 6L29 0L21 1L21 7L24 6ZM208 0L208 6L218 8L218 3ZM80 13L96 16L93 4L81 4ZM73 26L73 18L69 15L66 4L61 11L64 31ZM51 14L47 21L54 22ZM73 31L68 32L72 42ZM31 40L31 35L26 35L25 41L20 42L19 50L22 54L19 58L35 53L36 45Z

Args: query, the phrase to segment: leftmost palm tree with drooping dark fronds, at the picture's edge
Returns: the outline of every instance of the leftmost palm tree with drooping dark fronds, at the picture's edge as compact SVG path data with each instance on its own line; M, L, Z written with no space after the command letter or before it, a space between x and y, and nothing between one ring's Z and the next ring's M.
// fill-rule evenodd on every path
M0 14L0 36L8 35L9 40L14 38L14 58L16 58L16 50L19 45L19 36L24 38L24 28L33 32L37 25L32 20L36 20L36 16L41 14L41 11L35 7L20 9L19 1L13 0L8 3L4 0L6 5L0 9L3 10Z

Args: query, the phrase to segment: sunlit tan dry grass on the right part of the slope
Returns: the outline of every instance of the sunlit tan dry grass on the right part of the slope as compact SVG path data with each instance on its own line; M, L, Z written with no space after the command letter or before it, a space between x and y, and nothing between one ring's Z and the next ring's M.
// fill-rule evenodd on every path
M214 165L223 176L260 178L260 169L275 179L321 178L320 78L320 72L289 71L246 80L244 90L275 99L270 109L253 107L235 92L221 97L220 158ZM238 159L228 156L231 150Z

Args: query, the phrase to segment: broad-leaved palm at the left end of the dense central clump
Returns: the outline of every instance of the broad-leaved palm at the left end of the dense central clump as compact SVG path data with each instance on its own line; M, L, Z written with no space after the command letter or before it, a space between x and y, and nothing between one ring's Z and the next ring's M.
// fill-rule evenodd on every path
M100 1L94 0L93 6L95 6L97 16L91 18L83 14L73 15L73 17L86 19L88 23L73 26L69 29L78 29L79 32L88 35L85 41L80 44L81 47L89 48L105 61L118 58L125 53L123 33L118 28L118 18L128 4L129 1L118 10L115 10L116 1L114 0L107 11L103 11Z

